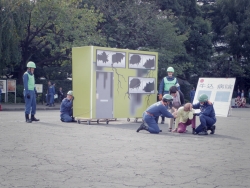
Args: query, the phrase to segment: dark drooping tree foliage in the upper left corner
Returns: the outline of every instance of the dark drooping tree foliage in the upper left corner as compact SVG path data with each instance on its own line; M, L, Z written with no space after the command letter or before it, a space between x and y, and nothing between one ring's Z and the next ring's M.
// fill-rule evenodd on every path
M0 0L0 75L8 75L21 59L20 40L27 19L27 0Z

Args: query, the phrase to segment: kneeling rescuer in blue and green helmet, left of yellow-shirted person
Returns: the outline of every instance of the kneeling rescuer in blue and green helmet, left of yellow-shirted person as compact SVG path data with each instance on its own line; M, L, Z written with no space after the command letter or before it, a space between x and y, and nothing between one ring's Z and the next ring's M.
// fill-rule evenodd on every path
M158 126L159 116L162 115L168 118L175 118L177 115L177 112L171 114L166 107L172 101L173 97L169 94L165 94L162 97L161 101L156 102L155 104L152 104L150 107L148 107L147 110L143 113L142 119L144 123L140 125L140 127L137 129L137 132L141 130L146 130L150 133L158 134L160 132Z

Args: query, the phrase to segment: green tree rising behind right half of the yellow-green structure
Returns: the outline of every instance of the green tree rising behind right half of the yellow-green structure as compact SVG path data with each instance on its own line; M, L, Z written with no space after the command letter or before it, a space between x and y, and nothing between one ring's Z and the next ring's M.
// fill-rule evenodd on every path
M159 78L165 76L167 66L173 64L181 67L177 74L186 70L183 66L186 62L181 59L186 56L187 35L175 27L178 20L171 11L159 11L153 1L83 0L84 3L103 13L105 22L100 28L108 47L159 52Z

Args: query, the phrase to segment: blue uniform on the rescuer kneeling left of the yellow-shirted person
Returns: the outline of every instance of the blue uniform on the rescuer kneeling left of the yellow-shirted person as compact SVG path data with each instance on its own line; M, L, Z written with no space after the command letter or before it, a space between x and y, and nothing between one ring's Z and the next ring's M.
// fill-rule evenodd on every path
M158 119L160 115L168 118L174 118L174 116L167 110L166 106L162 103L162 101L152 104L143 113L143 120L145 123L147 123L148 131L150 133L158 134L160 132L158 126Z

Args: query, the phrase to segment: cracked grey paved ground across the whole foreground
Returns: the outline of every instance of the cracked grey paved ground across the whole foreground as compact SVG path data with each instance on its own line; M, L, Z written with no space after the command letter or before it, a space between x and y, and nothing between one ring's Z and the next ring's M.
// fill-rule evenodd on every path
M250 187L250 109L218 117L215 135L136 133L125 119L62 123L56 110L24 122L0 112L0 187ZM190 129L189 129L190 130Z

